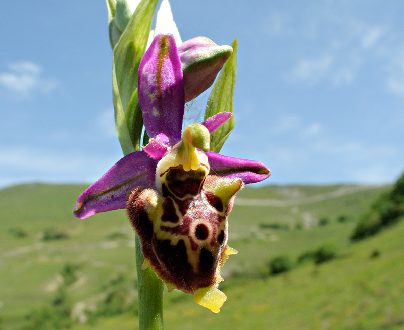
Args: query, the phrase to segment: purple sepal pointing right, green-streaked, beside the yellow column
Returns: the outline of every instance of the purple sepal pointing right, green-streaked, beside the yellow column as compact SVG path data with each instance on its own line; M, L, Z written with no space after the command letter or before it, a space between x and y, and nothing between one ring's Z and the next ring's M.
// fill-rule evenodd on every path
M227 157L212 151L206 155L211 166L209 174L241 178L245 184L263 181L271 175L271 171L260 161Z

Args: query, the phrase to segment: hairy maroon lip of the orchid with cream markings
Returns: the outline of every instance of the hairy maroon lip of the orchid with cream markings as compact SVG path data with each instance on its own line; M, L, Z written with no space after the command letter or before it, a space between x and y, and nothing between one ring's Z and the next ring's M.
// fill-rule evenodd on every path
M217 293L220 269L227 255L235 253L227 246L227 216L243 181L208 175L207 157L199 151L198 169L185 171L177 163L180 144L158 163L160 189L134 189L127 213L139 235L144 267L150 266L169 291ZM217 311L220 306L215 305Z

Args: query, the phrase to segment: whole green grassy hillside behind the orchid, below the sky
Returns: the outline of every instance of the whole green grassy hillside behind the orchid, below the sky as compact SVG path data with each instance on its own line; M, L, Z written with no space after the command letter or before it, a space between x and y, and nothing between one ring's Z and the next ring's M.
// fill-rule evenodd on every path
M39 328L38 315L65 307L78 320L69 321L74 329L137 328L134 234L124 211L74 218L85 188L0 190L0 328ZM239 253L222 271L228 301L213 314L182 292L166 294L165 327L403 328L404 222L359 243L349 240L357 219L390 188L245 188L229 219L229 245ZM296 264L329 242L334 260ZM288 257L294 269L269 276L276 256ZM87 322L78 324L83 317Z

